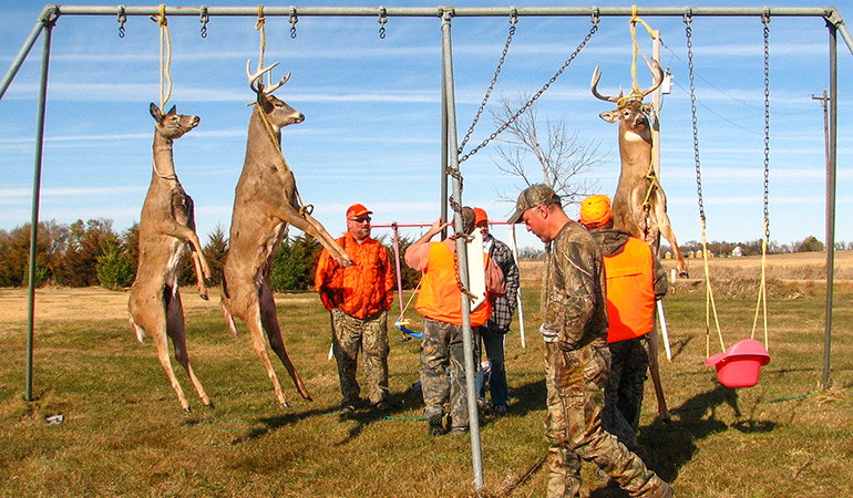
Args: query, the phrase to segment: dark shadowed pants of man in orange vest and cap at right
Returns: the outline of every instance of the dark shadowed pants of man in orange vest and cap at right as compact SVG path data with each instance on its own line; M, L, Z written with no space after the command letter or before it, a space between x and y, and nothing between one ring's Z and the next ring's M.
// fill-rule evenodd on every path
M619 438L646 465L650 459L637 440L643 390L648 377L648 335L609 344L610 374L604 391L602 424L605 430Z

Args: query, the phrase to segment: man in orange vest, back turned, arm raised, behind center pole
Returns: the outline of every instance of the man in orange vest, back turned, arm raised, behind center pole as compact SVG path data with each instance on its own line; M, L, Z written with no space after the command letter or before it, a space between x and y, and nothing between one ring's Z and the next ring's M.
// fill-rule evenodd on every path
M463 234L474 231L474 210L462 208ZM423 413L429 421L430 434L440 435L469 432L467 393L465 385L465 350L462 338L462 292L460 291L456 242L446 238L430 242L450 224L441 218L426 234L405 250L405 263L423 271L421 290L414 308L423 314L421 341L421 392ZM483 253L485 287L490 299L471 310L471 326L480 326L492 314L491 299L506 291L501 268ZM472 352L473 353L473 352ZM450 371L450 385L448 372ZM444 404L450 401L450 414L444 421Z

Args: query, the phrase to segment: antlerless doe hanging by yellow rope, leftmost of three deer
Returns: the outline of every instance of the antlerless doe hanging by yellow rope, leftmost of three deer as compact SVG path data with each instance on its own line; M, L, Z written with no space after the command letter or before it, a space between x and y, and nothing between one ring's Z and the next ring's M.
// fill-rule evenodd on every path
M189 404L168 359L168 338L175 346L175 359L186 370L202 403L208 407L213 407L213 403L189 366L186 350L184 309L177 280L183 270L187 245L195 264L198 292L205 300L205 278L210 278L210 268L195 232L193 199L184 191L175 174L172 143L198 126L199 118L177 114L175 106L164 114L155 104L151 104L151 115L156 122L152 147L153 170L140 217L140 261L127 308L136 338L140 342L146 335L153 338L157 359L168 375L181 406L189 412Z

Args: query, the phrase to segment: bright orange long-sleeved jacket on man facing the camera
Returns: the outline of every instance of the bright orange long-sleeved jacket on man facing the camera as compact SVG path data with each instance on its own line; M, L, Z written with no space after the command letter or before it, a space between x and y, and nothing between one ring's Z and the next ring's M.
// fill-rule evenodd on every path
M347 232L337 239L354 264L339 266L323 249L317 261L314 284L322 304L338 308L357 319L366 319L391 309L394 300L394 272L388 249L367 238L361 243Z

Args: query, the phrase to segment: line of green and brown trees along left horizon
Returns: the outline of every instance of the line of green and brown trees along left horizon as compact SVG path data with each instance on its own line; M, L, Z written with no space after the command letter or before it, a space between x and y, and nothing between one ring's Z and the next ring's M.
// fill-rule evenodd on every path
M0 230L0 287L29 286L31 225L12 230ZM124 289L136 277L138 260L140 226L134 222L124 231L116 231L113 221L105 218L76 220L71 225L55 220L39 224L35 249L35 287L92 287ZM388 237L378 240L389 247ZM400 255L413 242L400 238ZM314 272L322 246L312 237L285 234L281 246L270 268L270 283L277 292L314 289ZM222 284L223 267L228 253L228 237L222 226L207 235L202 247L210 266L213 286ZM394 263L391 252L391 263ZM402 264L402 282L405 289L414 289L420 272ZM185 256L182 286L195 283L192 258Z

